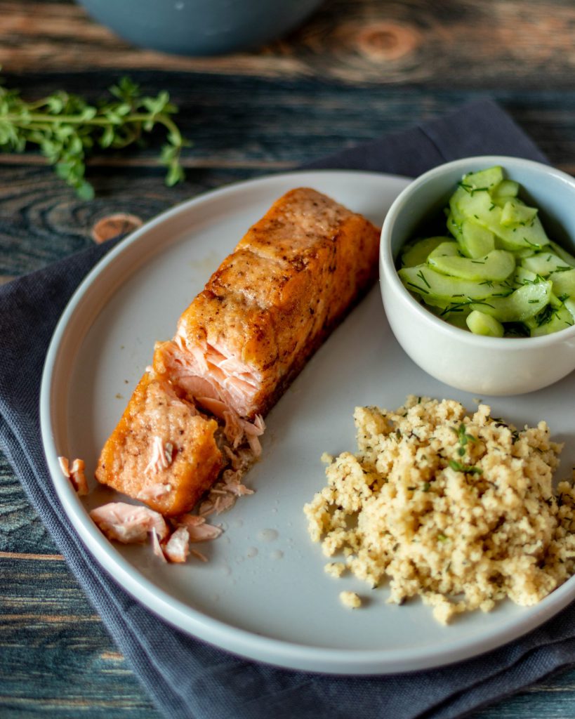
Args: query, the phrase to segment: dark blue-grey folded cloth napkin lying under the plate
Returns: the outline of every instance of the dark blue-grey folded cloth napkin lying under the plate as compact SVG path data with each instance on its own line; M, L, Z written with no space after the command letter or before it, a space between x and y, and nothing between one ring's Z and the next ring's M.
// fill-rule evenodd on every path
M464 106L309 168L418 175L478 154L546 158L492 101ZM119 649L170 719L361 719L461 716L575 661L575 605L527 636L455 666L385 677L339 677L247 661L168 626L116 585L78 539L40 445L40 377L65 304L111 243L0 288L0 443ZM33 337L33 342L31 341Z

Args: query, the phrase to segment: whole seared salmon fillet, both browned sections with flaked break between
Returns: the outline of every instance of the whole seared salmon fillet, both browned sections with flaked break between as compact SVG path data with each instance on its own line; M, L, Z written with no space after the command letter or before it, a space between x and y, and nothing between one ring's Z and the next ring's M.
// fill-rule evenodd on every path
M262 416L376 278L379 239L315 190L277 200L156 344L96 478L168 516L193 508L221 470L214 493L247 493Z

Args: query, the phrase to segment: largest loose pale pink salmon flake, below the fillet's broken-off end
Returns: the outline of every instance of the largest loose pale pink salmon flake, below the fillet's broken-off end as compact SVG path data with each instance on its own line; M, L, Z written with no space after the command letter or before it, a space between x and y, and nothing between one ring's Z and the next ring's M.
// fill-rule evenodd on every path
M168 534L162 515L147 507L111 502L93 509L90 516L108 539L122 544L144 542L152 531L160 540Z

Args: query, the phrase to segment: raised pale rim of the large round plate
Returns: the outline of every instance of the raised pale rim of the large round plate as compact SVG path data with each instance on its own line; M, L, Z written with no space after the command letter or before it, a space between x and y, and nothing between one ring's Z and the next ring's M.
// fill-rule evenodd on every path
M153 217L135 230L128 237L122 239L116 247L112 248L96 265L88 272L85 278L76 288L73 296L68 301L65 310L57 323L50 341L46 355L45 365L42 371L42 383L40 388L40 429L42 446L47 459L47 466L50 472L50 479L55 488L58 499L63 505L73 530L78 533L80 539L88 552L96 559L99 567L106 574L126 590L129 595L138 603L144 605L152 613L158 615L175 628L188 633L190 636L208 642L224 651L247 657L254 661L263 661L288 669L320 672L328 674L397 674L400 672L414 672L421 669L433 669L434 667L446 666L456 661L470 659L479 656L487 651L523 636L528 631L540 626L543 622L558 613L575 598L575 577L565 582L561 587L551 592L538 605L529 608L525 615L517 615L505 628L493 628L492 631L479 638L464 638L460 641L452 640L449 648L441 644L437 649L421 651L420 649L333 649L299 644L297 642L285 641L283 639L260 636L257 633L234 626L224 620L206 616L190 605L170 595L165 590L152 584L137 567L134 567L124 558L116 546L108 541L96 528L93 523L86 523L86 509L78 499L69 482L61 481L60 467L57 464L57 450L52 441L52 381L57 372L57 358L61 344L65 338L70 321L75 313L81 311L86 293L92 287L96 279L106 270L106 267L114 263L116 258L129 250L133 244L142 242L149 232L154 232L157 226L161 226L181 213L185 213L194 206L210 201L213 198L224 199L226 196L237 192L249 190L258 185L267 185L270 182L287 182L291 178L313 177L327 178L329 175L351 180L352 178L372 178L384 182L397 183L399 193L407 186L411 179L402 175L391 173L377 173L363 170L293 170L287 173L274 173L249 180L238 180L220 188L205 191L186 201L176 204ZM158 250L160 252L160 250ZM152 257L155 253L152 253ZM137 272L134 267L130 276ZM115 291L115 290L114 290ZM106 305L106 302L102 306ZM111 568L114 568L114 572ZM430 616L430 621L433 618ZM182 623L180 623L182 622ZM453 628L450 628L451 631Z

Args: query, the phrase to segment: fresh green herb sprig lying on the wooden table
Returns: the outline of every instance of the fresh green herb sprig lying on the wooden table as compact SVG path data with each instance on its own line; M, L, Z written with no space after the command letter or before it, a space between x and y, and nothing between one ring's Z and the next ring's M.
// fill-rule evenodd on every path
M181 182L180 152L190 143L172 119L178 108L169 94L143 96L129 78L122 78L109 92L111 96L98 104L65 91L29 102L19 91L6 88L0 78L0 150L23 152L36 145L58 177L87 200L94 196L85 177L87 158L98 148L121 150L140 144L144 133L160 125L167 133L159 160L167 168L166 185Z

